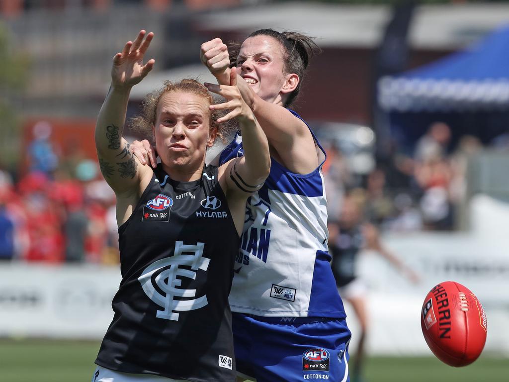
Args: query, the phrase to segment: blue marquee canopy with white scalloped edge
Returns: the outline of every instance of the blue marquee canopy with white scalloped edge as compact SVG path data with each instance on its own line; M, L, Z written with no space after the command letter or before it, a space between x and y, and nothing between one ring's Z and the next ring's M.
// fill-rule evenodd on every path
M386 111L475 111L509 108L509 25L467 50L378 83Z

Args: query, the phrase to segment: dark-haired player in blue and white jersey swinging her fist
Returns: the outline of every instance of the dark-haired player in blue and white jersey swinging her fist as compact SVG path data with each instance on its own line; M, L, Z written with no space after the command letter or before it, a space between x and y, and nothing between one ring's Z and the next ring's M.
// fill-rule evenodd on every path
M317 50L306 36L273 30L253 32L231 54L218 38L201 49L220 84L228 83L230 64L238 69L239 90L267 135L272 158L265 185L247 202L230 294L239 380L349 380L351 334L327 248L325 152L288 108ZM242 157L243 138L237 134L220 163ZM150 148L135 153L154 165Z

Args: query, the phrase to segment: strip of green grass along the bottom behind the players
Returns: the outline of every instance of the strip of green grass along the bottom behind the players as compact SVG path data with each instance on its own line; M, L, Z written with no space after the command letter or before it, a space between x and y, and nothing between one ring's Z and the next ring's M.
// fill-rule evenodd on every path
M0 380L6 382L88 382L98 342L0 340ZM505 382L509 360L481 357L464 368L435 358L370 358L366 382Z

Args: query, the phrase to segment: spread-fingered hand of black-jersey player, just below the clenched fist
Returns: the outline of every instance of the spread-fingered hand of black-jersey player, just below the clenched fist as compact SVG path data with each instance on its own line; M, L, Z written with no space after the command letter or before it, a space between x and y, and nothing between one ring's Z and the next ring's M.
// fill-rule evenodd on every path
M256 118L242 97L242 94L237 86L237 68L233 67L230 71L230 85L214 85L204 84L209 91L224 97L227 102L217 105L210 105L210 110L230 110L230 113L219 118L217 122L225 122L235 118L239 124L254 123Z

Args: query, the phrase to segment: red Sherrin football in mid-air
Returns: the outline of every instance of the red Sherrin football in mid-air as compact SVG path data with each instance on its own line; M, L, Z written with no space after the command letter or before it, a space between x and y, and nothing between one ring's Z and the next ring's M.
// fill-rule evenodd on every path
M430 290L420 324L431 351L447 365L469 365L483 351L486 314L477 297L459 283L445 281Z

